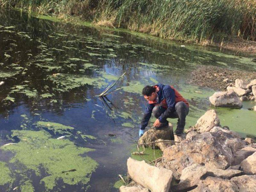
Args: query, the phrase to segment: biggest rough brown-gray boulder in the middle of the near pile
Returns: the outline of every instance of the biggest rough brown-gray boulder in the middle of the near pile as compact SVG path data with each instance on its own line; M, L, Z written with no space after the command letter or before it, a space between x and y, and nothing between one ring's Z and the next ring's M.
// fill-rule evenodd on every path
M226 132L204 132L166 148L162 161L167 169L175 170L179 174L192 164L204 164L211 169L226 169L233 162L234 150L241 145L236 142L239 140Z

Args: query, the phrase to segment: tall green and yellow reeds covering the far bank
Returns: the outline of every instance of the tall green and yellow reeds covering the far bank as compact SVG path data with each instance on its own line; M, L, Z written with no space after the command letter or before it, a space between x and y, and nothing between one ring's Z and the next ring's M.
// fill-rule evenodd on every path
M203 45L256 40L256 0L0 0L0 7Z

